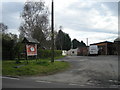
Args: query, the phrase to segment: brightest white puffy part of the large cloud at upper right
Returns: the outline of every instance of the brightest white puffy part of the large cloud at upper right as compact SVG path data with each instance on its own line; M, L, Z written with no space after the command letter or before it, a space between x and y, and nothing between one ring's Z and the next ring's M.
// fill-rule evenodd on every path
M104 11L106 15L102 16L97 10L93 9L89 13L89 21L91 24L88 26L91 29L101 29L104 32L117 32L118 31L118 17L112 16L110 11Z

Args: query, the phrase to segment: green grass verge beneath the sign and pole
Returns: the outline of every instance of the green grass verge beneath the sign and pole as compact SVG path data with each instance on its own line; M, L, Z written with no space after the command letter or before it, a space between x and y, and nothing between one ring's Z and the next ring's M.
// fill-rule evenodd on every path
M22 65L22 66L21 66ZM15 68L16 66L21 66ZM9 76L39 76L39 75L49 75L62 70L65 70L69 67L68 62L55 61L51 63L48 59L42 60L29 60L29 63L26 64L25 61L16 64L15 61L3 61L2 62L2 74Z

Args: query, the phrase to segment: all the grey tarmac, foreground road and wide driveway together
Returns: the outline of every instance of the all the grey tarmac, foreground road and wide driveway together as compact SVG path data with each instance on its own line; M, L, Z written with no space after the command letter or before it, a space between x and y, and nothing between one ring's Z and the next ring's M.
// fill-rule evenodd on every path
M20 77L17 81L4 78L3 87L118 87L117 56L66 56L58 61L70 62L71 68L54 75Z

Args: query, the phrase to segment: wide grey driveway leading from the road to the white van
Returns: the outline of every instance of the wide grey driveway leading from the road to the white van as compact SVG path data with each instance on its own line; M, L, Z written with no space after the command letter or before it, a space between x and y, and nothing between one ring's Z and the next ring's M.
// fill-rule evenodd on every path
M54 75L25 78L86 87L117 87L118 56L66 56L58 61L71 63L71 68Z

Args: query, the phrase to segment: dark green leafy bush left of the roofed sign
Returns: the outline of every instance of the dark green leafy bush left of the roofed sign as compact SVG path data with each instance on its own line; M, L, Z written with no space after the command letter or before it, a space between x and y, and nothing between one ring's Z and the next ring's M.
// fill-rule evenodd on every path
M15 58L15 45L17 44L17 35L6 33L2 35L2 58L14 59Z

